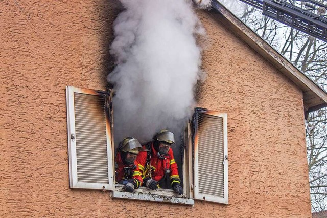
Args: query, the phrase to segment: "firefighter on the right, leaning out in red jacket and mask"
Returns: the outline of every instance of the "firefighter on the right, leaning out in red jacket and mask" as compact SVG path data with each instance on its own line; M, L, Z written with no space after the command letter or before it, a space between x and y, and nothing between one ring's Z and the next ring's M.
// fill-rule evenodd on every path
M170 177L173 190L183 194L181 181L178 175L177 164L171 146L175 144L174 134L168 130L161 130L143 146L146 152L140 152L136 158L139 172L142 175L143 186L156 190L161 181Z

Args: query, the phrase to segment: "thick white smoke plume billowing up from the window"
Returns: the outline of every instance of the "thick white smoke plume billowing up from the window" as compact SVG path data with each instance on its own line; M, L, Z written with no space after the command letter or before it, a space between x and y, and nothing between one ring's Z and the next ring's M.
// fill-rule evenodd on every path
M180 133L195 105L204 34L184 0L121 0L125 10L114 22L110 53L116 67L107 80L114 83L115 143L132 136L152 139L160 129Z

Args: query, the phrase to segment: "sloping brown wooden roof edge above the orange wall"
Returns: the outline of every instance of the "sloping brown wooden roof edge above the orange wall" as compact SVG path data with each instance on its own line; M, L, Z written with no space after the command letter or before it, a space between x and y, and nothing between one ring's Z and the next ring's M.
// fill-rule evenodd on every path
M305 111L316 111L322 108L321 106L327 106L327 93L319 85L301 72L293 63L276 51L217 0L214 0L212 5L218 13L213 12L213 10L209 11L209 13L218 16L219 20L229 30L236 33L253 50L268 60L278 71L287 76L302 90Z

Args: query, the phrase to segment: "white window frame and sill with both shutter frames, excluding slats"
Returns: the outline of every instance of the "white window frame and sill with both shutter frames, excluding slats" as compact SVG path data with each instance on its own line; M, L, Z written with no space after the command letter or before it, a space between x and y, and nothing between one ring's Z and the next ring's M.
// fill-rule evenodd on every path
M105 119L106 119L106 140L107 140L107 158L108 158L108 184L104 183L86 183L77 180L77 152L76 140L71 138L71 134L75 131L75 106L74 93L82 93L88 95L105 96ZM183 156L183 186L184 194L179 196L171 189L151 190L146 187L135 189L129 193L122 190L123 185L114 182L114 140L113 140L113 111L111 106L112 92L108 90L99 91L91 89L81 89L74 86L66 86L66 103L67 103L67 136L68 136L68 154L69 154L69 185L71 188L83 189L100 189L111 190L112 197L123 199L136 199L155 202L170 202L177 204L194 205L194 199L202 201L211 201L222 204L228 204L228 145L227 145L227 114L209 111L204 108L195 108L194 116L197 113L205 113L223 118L223 157L224 161L224 198L210 196L208 194L199 193L198 180L198 141L194 137L198 129L195 129L195 117L193 121L188 122L184 134L184 156ZM197 121L196 121L197 122ZM197 128L197 126L196 126ZM76 137L76 136L75 136Z

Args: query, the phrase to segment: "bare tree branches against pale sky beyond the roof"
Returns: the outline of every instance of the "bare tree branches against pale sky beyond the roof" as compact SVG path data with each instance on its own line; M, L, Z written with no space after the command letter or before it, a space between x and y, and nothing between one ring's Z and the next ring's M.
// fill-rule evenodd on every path
M238 0L219 0L247 26L327 90L327 43L278 21ZM297 1L299 7L304 7ZM327 4L327 0L318 0ZM312 211L327 210L327 110L309 113L306 121L307 157Z

